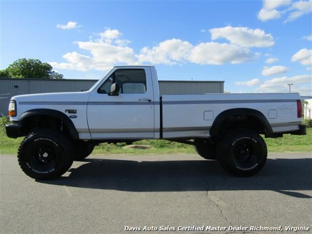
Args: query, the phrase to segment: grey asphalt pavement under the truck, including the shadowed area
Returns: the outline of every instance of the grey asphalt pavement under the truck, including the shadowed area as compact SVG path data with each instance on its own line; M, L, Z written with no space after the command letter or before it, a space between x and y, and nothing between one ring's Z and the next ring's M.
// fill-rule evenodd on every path
M13 155L1 155L0 166L3 234L193 225L309 226L311 233L311 153L269 154L264 169L247 178L197 155L91 155L49 181L24 175Z

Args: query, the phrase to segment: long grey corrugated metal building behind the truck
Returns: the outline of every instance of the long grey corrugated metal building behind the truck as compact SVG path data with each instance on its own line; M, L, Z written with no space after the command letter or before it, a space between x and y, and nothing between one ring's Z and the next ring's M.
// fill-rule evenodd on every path
M0 78L0 115L7 115L11 97L22 94L78 92L89 89L98 80ZM223 93L224 81L159 80L160 94Z

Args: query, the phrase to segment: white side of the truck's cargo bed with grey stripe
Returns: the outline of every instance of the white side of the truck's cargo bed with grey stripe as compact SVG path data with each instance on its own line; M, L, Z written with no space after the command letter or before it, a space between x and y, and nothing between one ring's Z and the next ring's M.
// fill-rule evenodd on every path
M296 131L301 124L297 93L163 95L161 99L163 138L210 137L215 118L234 108L261 112L273 133Z

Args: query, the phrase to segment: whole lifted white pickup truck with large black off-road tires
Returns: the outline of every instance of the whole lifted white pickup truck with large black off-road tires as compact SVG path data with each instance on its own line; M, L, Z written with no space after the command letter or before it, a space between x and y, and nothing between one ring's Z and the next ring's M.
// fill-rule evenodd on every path
M85 92L21 95L9 104L8 137L25 136L21 169L36 179L63 175L101 142L167 139L193 144L239 176L261 170L260 136L305 135L292 94L162 95L154 66L115 66Z

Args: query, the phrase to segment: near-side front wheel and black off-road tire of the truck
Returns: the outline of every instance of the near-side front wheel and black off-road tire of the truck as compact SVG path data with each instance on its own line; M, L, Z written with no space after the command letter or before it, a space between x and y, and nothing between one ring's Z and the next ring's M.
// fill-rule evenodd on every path
M51 129L39 129L26 136L18 150L20 168L34 179L54 179L71 167L74 146L69 137Z

